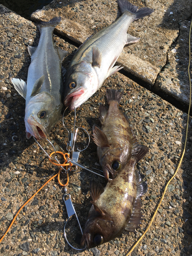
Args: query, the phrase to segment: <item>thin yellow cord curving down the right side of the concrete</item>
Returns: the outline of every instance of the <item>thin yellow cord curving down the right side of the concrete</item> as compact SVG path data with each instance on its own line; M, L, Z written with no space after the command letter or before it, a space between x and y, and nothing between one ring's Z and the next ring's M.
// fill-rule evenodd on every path
M161 205L161 202L162 202L162 200L163 200L163 198L164 198L164 196L165 196L166 189L167 189L169 183L170 183L170 182L173 180L173 178L176 176L176 174L177 174L177 172L178 172L178 169L179 169L179 167L180 167L180 165L181 165L181 163L182 163L184 154L185 154L186 143L187 143L187 134L188 134L188 123L189 123L190 105L191 105L191 82L190 82L190 71L189 71L189 67L190 67L190 33L191 33L191 25L192 25L192 20L191 20L191 22L190 22L190 30L189 30L189 62L188 62L188 76L189 76L189 90L190 90L190 93L189 93L189 108L188 108L187 127L186 127L186 135L185 135L185 144L184 144L183 154L182 154L182 156L181 156L180 162L179 162L179 164L178 164L178 167L177 167L177 170L176 170L174 176L168 181L168 183L167 183L166 186L165 186L163 195L162 195L161 200L160 200L160 202L159 202L159 204L158 204L158 206L157 206L157 209L156 209L156 211L155 211L155 214L154 214L154 216L152 217L151 222L148 224L147 229L144 231L144 233L142 234L142 236L140 237L140 239L137 241L137 243L132 247L132 249L131 249L125 256L128 256L128 255L130 255L130 253L133 252L133 250L135 249L135 247L136 247L136 246L140 243L140 241L144 238L144 236L145 236L146 232L148 231L148 229L150 229L150 227L151 227L151 225L152 225L152 223L153 223L153 221L154 221L154 219L155 219L155 216L156 216L156 214L157 214L157 211L158 211L158 209L159 209L159 206Z

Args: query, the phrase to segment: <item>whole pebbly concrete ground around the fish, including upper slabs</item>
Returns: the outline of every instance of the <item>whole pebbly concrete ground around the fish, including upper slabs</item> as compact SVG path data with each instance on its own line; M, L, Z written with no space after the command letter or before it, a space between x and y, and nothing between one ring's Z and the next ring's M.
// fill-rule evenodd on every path
M98 120L98 105L106 104L106 89L121 89L120 108L129 117L140 144L150 152L136 168L145 176L147 193L141 198L143 220L137 233L119 238L91 250L76 251L63 238L67 220L62 200L63 188L57 179L51 181L18 215L0 245L3 256L21 255L126 255L146 229L163 189L173 176L180 160L186 131L189 100L188 33L192 14L191 1L132 1L134 5L155 9L150 16L134 22L129 33L140 42L123 49L117 63L121 73L106 79L103 86L77 110L77 125L92 134ZM20 206L58 169L52 166L37 143L25 137L25 100L12 86L11 78L27 80L30 56L27 46L37 46L39 31L33 22L0 5L0 234L5 233ZM120 15L116 1L53 1L32 14L34 22L61 16L55 30L57 47L68 50L63 61L67 67L77 47L92 33L110 25ZM110 42L113 44L113 42ZM191 68L191 67L190 67ZM191 69L190 69L191 70ZM74 114L66 116L71 125ZM189 118L189 122L191 118ZM57 150L66 152L67 133L60 120L50 140ZM186 154L176 178L168 186L154 224L132 255L192 255L192 130ZM51 146L41 142L48 153ZM80 154L79 162L98 168L96 145ZM65 178L65 177L63 177ZM80 168L70 173L68 191L72 196L82 228L91 207L90 181L105 181ZM78 247L80 230L71 221L67 229L70 242Z

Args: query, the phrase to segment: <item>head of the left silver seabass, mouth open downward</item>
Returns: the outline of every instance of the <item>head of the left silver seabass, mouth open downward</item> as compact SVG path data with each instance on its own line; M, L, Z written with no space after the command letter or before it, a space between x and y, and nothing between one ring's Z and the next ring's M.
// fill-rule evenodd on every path
M26 105L25 125L26 137L30 139L48 138L53 126L58 121L62 103L55 102L52 95L42 92L32 97Z

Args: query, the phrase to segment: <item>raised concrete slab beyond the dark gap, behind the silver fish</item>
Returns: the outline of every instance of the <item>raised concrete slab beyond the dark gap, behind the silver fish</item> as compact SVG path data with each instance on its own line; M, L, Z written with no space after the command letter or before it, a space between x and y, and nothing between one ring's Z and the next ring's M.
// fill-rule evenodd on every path
M190 0L183 1L132 1L134 5L150 7L155 11L150 16L144 17L134 22L128 32L140 37L140 42L124 48L117 60L117 65L124 66L124 70L134 74L144 82L155 85L155 90L160 90L171 97L176 98L181 103L187 103L186 95L189 94L186 78L179 77L177 86L173 83L166 84L160 80L161 72L171 54L172 44L180 47L178 36L180 33L179 23L187 19L192 14L192 4ZM185 8L187 6L187 10ZM120 12L116 1L53 1L42 10L34 12L31 18L34 21L47 20L48 17L62 16L62 24L57 28L57 32L65 35L78 44L82 44L91 34L110 25ZM183 44L187 45L187 38L183 38ZM110 42L113 44L113 42ZM187 48L182 48L183 55L187 54ZM173 59L173 66L178 62ZM168 71L168 70L167 70ZM173 76L172 71L169 76ZM158 74L160 75L158 76ZM180 73L180 69L177 70ZM163 74L162 74L163 76ZM157 79L157 82L156 82ZM161 83L160 83L161 82ZM185 84L185 89L183 88ZM178 93L179 92L179 93Z

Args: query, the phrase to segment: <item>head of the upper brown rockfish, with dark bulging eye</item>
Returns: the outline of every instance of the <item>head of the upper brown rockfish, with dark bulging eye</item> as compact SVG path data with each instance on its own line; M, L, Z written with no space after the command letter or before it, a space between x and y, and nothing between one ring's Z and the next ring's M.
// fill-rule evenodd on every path
M120 148L99 148L98 156L100 156L100 165L106 180L115 178L119 171L125 166L129 160L129 152L124 148L124 152ZM101 151L103 151L101 153ZM111 174L111 177L110 177Z

